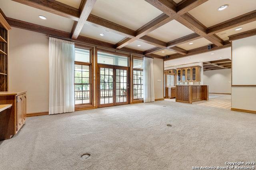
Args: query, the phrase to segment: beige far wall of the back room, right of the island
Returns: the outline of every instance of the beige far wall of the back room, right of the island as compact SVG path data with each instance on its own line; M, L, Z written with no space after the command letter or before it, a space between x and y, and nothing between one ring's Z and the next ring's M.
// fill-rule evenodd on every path
M209 85L209 93L231 93L231 72L231 69L204 71L203 80Z

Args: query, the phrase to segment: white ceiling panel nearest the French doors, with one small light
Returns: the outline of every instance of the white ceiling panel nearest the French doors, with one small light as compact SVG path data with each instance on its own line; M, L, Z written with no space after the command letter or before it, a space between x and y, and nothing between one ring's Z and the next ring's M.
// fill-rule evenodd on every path
M104 36L100 36L100 34L104 34ZM93 38L96 40L108 42L108 43L118 43L124 36L108 31L107 28L103 28L97 26L96 24L92 24L90 22L86 22L80 32L80 36L85 36L89 38Z

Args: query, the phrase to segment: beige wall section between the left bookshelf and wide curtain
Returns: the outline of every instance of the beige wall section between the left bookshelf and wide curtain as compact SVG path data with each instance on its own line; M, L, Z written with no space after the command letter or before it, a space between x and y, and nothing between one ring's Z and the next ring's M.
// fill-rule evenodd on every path
M48 111L48 38L13 27L9 38L9 91L27 91L27 113Z

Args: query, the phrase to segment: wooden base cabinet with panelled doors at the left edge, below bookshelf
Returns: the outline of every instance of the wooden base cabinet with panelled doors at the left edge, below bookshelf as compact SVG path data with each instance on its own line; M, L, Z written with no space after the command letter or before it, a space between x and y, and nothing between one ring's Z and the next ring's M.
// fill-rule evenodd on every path
M0 92L0 105L12 104L11 109L0 115L0 124L8 125L0 140L10 139L26 122L26 92Z

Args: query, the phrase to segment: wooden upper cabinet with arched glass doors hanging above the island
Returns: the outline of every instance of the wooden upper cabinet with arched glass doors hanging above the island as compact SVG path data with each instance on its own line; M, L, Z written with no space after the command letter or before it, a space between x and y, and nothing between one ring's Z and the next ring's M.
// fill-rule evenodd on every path
M185 67L177 69L178 82L199 82L201 81L201 67Z

